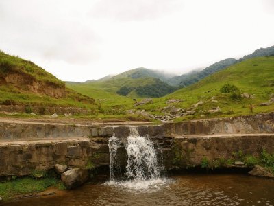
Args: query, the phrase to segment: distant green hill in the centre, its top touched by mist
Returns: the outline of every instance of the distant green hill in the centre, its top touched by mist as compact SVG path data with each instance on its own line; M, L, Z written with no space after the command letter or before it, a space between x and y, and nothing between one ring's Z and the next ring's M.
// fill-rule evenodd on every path
M177 89L159 78L164 78L164 74L150 69L138 68L101 80L90 80L82 84L68 83L68 85L79 92L82 92L83 88L89 88L90 91L101 90L112 93L112 95L116 93L129 98L161 97Z

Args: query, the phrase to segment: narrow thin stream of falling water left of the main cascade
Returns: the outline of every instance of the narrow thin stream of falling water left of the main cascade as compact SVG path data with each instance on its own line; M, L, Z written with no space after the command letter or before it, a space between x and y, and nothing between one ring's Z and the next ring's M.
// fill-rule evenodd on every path
M121 139L115 137L115 134L108 141L108 149L110 151L110 181L115 180L114 170L116 163L116 152L121 144Z

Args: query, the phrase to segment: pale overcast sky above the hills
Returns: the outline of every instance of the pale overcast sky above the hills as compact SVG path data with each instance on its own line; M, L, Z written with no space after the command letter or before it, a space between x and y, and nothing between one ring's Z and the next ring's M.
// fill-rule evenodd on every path
M0 49L61 80L182 74L274 45L273 0L0 0Z

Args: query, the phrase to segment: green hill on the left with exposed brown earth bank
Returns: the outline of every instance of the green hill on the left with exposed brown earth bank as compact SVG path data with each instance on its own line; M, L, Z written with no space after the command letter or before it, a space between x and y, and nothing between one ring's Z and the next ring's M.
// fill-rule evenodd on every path
M95 100L33 62L0 52L0 104L94 108Z

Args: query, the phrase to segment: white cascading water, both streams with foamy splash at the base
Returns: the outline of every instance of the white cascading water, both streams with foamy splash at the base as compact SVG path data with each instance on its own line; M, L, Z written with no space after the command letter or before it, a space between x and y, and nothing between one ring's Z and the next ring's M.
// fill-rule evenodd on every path
M166 183L160 178L160 167L156 150L149 137L142 137L136 128L130 128L125 149L127 151L127 181L116 181L114 168L116 151L121 140L113 135L109 140L110 150L110 181L108 185L122 186L132 190L158 189ZM147 190L146 190L147 191Z

